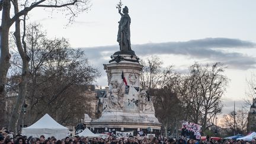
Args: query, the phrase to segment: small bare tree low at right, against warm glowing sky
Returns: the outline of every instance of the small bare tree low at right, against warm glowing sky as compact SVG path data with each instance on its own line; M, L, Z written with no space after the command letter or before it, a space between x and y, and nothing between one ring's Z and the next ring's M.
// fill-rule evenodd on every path
M234 119L235 116L235 119ZM247 117L248 111L244 108L234 112L231 111L229 114L225 114L222 119L222 126L227 127L227 133L233 135L236 134L246 134L247 133Z

